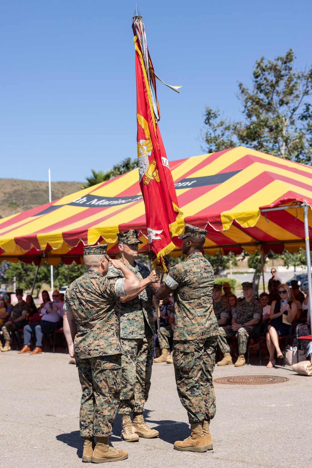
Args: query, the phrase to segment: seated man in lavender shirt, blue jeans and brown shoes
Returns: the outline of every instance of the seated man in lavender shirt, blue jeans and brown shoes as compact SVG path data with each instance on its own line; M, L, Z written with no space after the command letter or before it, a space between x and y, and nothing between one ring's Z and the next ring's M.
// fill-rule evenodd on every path
M30 354L40 354L42 352L42 337L47 331L54 328L55 323L59 322L60 318L64 315L63 302L60 301L60 294L58 290L53 291L52 302L47 302L41 309L42 319L40 322L31 323L24 327L24 346L19 354L30 352L30 339L31 334L36 335L36 347Z

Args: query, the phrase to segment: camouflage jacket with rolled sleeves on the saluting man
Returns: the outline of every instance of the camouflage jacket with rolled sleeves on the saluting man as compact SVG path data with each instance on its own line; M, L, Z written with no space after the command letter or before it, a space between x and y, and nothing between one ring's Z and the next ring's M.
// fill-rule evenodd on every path
M86 270L66 289L65 302L76 320L76 359L122 353L119 342L119 297L124 295L124 291L123 280L118 278L122 278L119 270L110 278L98 271Z

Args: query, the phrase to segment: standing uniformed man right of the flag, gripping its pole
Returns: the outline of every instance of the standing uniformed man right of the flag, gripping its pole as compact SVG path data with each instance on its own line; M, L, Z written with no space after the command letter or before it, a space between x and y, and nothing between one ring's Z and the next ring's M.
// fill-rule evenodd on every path
M216 413L212 384L218 323L211 293L213 269L201 249L207 231L185 225L182 253L187 259L170 267L164 283L156 290L163 299L174 292L174 372L180 401L188 411L191 435L174 443L174 449L205 452L212 449L210 419Z

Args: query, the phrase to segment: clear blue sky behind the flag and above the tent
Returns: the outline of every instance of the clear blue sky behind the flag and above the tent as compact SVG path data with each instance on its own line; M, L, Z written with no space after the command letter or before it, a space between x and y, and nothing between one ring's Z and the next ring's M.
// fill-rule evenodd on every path
M0 177L84 181L135 158L135 1L3 0ZM237 82L262 55L312 63L312 3L139 0L169 160L203 154L206 105L240 118Z

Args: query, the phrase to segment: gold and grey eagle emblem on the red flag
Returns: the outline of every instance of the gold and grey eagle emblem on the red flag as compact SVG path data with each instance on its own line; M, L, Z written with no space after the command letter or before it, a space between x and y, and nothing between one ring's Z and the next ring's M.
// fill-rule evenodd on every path
M148 158L151 156L153 151L152 139L150 129L147 123L147 120L137 114L138 124L143 128L145 133L145 140L140 139L138 141L138 173L139 173L139 180L141 182L143 176L145 185L148 185L151 180L155 180L156 182L160 182L158 170L156 169L156 161L152 159L149 161Z

